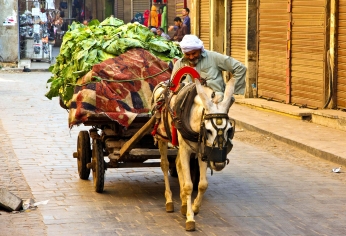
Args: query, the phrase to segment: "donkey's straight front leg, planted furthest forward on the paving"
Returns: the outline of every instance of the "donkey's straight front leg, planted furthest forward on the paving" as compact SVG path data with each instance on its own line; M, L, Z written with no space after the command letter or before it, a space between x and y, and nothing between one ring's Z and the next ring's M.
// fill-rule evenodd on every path
M181 140L181 139L180 139ZM186 225L185 229L187 231L195 230L195 219L194 213L192 211L191 194L192 194L192 181L190 175L190 151L188 151L188 146L184 142L180 142L179 145L179 159L181 161L182 174L184 176L184 186L183 191L186 196Z

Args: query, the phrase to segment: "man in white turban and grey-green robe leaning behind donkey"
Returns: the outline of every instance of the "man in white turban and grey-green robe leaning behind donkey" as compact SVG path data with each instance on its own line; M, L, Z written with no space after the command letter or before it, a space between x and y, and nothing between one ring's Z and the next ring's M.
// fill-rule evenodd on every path
M235 79L234 94L245 93L246 67L236 59L204 49L203 42L195 35L185 35L180 42L180 48L184 53L183 58L174 64L172 75L183 66L191 66L206 80L206 86L210 87L215 96L215 103L221 102L225 91L225 82L222 71L233 74ZM192 81L190 76L186 80Z

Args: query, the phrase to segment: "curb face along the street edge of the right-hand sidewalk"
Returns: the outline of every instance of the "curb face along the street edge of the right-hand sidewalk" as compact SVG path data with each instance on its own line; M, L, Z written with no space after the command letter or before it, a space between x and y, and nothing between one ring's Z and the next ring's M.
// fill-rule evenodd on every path
M249 131L254 131L254 132L257 132L257 133L261 133L261 134L270 136L270 137L272 137L272 138L274 138L276 140L279 140L281 142L287 143L288 145L297 147L297 148L299 148L299 149L301 149L303 151L306 151L306 152L308 152L308 153L310 153L310 154L312 154L314 156L317 156L319 158L322 158L322 159L325 159L325 160L328 160L328 161L331 161L331 162L334 162L334 163L346 166L346 159L345 158L342 158L340 156L337 156L337 155L329 153L329 152L325 152L325 151L319 150L317 148L311 147L311 146L303 144L303 143L299 143L299 142L294 141L294 140L292 140L290 138L286 138L286 137L274 134L272 132L268 132L266 130L260 129L258 127L253 126L253 125L250 125L248 123L242 122L242 121L240 121L238 119L235 119L235 121L236 121L236 126L238 126L238 128L240 127L240 128L243 128L243 129L246 129L246 130L249 130Z

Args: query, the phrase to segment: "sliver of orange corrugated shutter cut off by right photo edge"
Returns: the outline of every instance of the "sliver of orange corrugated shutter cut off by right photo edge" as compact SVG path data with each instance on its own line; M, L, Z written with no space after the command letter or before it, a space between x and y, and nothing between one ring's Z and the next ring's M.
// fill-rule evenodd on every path
M337 107L346 109L346 0L339 0Z

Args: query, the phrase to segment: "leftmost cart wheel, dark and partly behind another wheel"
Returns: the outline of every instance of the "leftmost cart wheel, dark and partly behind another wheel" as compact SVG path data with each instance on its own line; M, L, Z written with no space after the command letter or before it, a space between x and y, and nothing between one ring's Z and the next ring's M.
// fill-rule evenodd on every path
M90 169L87 164L91 162L90 137L88 131L80 131L77 140L77 165L78 174L81 179L88 179Z

